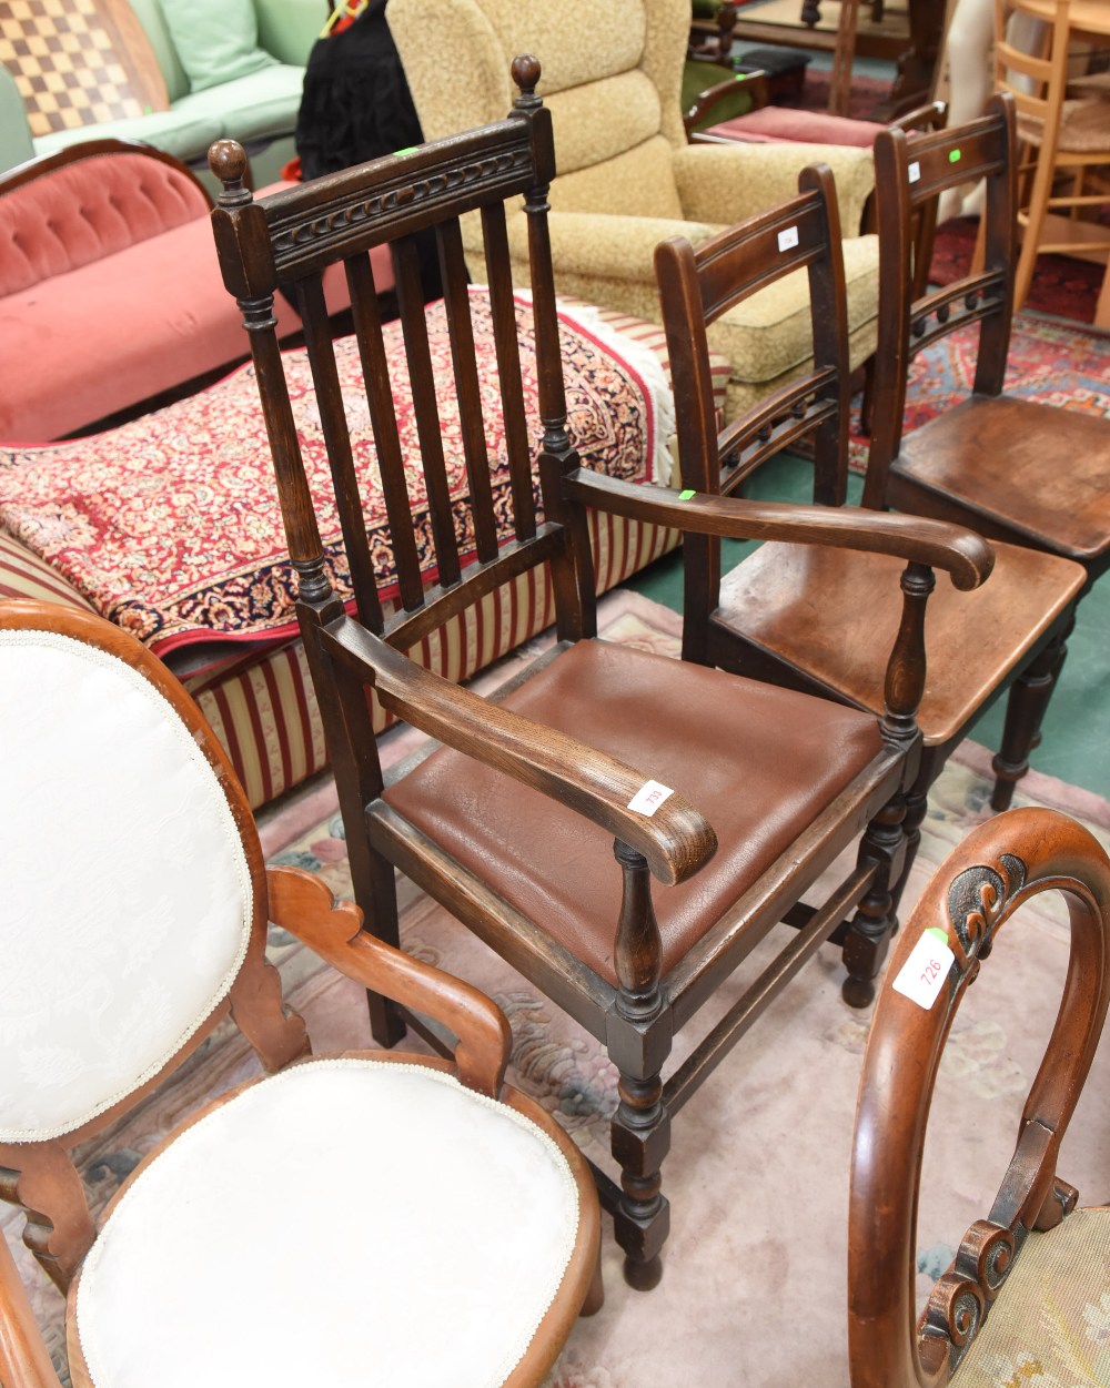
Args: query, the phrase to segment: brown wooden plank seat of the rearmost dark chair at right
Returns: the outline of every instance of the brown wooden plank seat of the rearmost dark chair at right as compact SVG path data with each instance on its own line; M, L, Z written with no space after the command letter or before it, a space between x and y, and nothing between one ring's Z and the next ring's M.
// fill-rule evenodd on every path
M1067 439L1066 465L1047 468ZM1061 458L1063 464L1063 458ZM1110 550L1106 419L1013 396L971 396L914 429L891 465L899 511L1093 562Z

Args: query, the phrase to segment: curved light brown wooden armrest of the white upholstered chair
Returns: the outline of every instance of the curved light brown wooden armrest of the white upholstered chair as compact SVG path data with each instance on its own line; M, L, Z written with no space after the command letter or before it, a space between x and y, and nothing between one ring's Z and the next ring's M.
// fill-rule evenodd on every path
M270 919L314 949L333 969L395 1002L449 1027L458 1045L458 1078L496 1098L502 1091L513 1033L502 1009L478 988L363 930L353 901L300 867L270 867Z

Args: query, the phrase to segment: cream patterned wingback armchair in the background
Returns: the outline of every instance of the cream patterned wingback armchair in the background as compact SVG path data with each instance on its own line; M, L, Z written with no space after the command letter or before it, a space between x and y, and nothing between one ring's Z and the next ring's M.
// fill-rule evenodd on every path
M788 201L799 169L813 162L832 165L840 222L854 232L874 183L870 151L688 144L679 86L689 24L689 0L389 6L425 139L500 121L513 104L513 57L539 58L539 92L554 121L560 169L550 218L557 286L656 322L653 254L661 240L681 235L699 244ZM471 271L485 280L479 236L477 223L467 229ZM524 215L510 236L514 258L524 261ZM843 250L857 366L875 347L877 240L853 235ZM711 341L732 364L729 418L800 373L811 351L804 271L729 310Z

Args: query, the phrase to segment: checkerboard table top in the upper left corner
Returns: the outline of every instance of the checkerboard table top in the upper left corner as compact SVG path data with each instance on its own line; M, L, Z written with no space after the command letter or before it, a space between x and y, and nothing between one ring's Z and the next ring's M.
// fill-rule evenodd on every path
M165 111L154 50L126 0L0 3L0 62L33 136Z

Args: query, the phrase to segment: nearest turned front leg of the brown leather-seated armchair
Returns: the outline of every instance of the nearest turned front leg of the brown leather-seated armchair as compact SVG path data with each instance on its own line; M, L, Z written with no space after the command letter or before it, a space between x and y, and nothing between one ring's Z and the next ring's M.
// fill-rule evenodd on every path
M621 1198L613 1231L624 1249L624 1277L646 1292L663 1277L663 1245L671 1231L671 1206L663 1195L661 1166L671 1146L671 1119L663 1106L663 1080L621 1072L621 1102L613 1119L611 1149L621 1167Z

